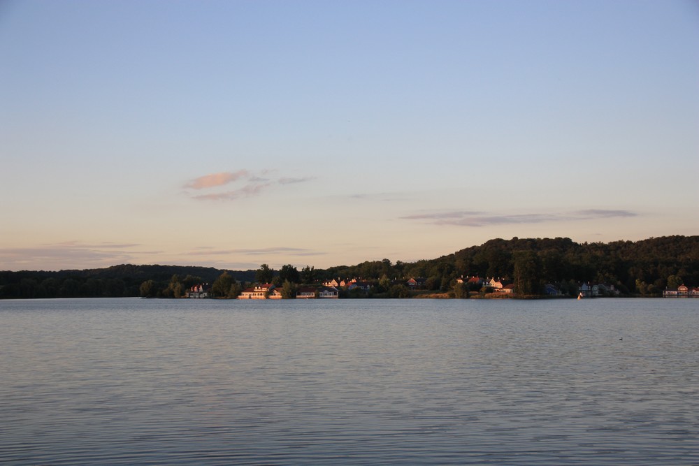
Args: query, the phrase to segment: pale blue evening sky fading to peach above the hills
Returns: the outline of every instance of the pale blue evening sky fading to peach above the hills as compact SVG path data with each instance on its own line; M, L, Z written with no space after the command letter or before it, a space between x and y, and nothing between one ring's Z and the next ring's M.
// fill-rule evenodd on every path
M698 175L698 1L0 1L0 270L696 235Z

